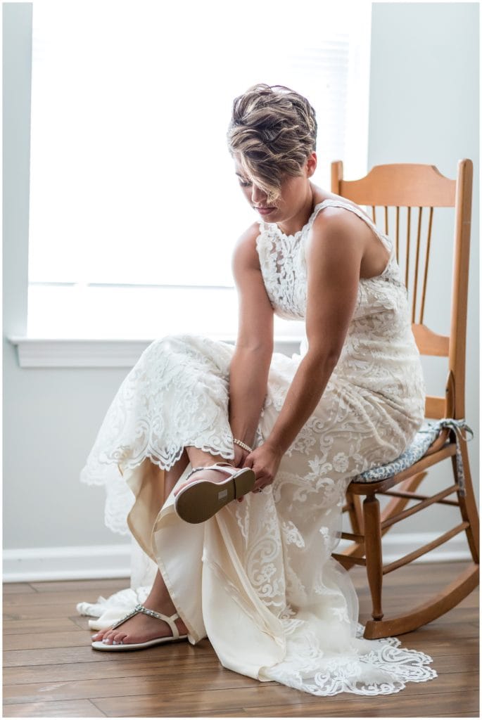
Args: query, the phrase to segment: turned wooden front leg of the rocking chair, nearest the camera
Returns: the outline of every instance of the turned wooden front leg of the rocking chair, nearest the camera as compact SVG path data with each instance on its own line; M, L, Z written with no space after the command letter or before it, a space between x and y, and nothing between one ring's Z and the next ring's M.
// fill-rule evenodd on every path
M380 503L376 495L367 495L363 501L365 525L365 557L367 579L372 595L372 618L381 620L382 610L382 534L380 528Z

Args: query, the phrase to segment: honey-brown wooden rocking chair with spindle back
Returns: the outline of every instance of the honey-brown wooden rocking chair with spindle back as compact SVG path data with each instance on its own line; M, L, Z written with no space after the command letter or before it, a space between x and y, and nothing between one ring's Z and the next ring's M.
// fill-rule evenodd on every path
M468 261L470 246L470 210L472 200L473 165L470 160L458 163L456 180L450 180L430 165L393 164L378 165L364 178L356 181L343 179L341 161L331 163L331 190L359 205L372 207L372 219L376 222L375 208L384 211L385 229L388 234L389 212L395 212L396 257L399 256L399 225L401 208L406 210L406 240L404 243L405 283L409 292L409 276L413 276L414 287L411 296L411 323L417 346L422 355L445 356L448 358L448 376L445 396L427 396L427 418L452 418L463 426L465 420L465 334L467 321ZM388 210L394 207L395 210ZM455 207L455 242L452 270L452 302L450 312L450 336L432 332L424 325L424 306L429 267L430 240L434 207ZM422 212L428 212L427 240L425 253L421 252ZM416 247L410 248L411 212L418 209ZM422 210L423 209L423 210ZM405 212L404 212L405 215ZM424 258L422 255L424 254ZM414 258L414 268L409 266ZM421 271L423 259L423 271ZM417 287L421 278L421 292ZM419 318L415 320L417 296L419 296ZM421 480L427 475L427 468L447 458L451 459L455 482L435 495L427 496L416 492ZM465 482L461 483L461 478ZM478 585L478 512L470 479L470 468L465 438L458 438L457 423L447 423L421 458L411 467L396 472L384 480L361 482L358 476L349 485L344 512L349 513L352 533L342 533L342 538L352 541L344 552L333 557L344 567L364 565L372 597L372 621L365 627L365 637L382 638L410 632L434 620L460 603ZM394 486L398 488L392 490ZM457 499L447 499L455 495ZM365 496L363 503L360 495ZM380 513L378 495L388 495L390 502ZM404 509L410 501L416 505ZM383 564L382 536L395 523L427 508L433 503L455 505L460 508L461 522L434 541L419 547L396 562ZM441 593L427 603L396 618L383 619L382 581L383 575L412 562L421 555L465 531L473 558L467 570L459 575Z

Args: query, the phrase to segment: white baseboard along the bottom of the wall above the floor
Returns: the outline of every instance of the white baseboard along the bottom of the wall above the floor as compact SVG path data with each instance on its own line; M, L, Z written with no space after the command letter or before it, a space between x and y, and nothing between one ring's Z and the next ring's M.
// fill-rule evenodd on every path
M393 562L437 536L438 533L388 534L383 538L383 561ZM338 550L344 544L346 541L340 543ZM4 582L130 577L130 555L130 544L4 550ZM469 560L465 534L460 534L415 562Z

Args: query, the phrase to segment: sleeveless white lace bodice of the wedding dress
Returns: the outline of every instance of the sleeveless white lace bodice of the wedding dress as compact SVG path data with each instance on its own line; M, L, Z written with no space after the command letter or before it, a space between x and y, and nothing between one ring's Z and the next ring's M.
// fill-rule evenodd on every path
M285 235L275 223L260 222L256 249L272 307L282 318L305 318L307 239L318 212L325 207L344 207L354 212L390 252L380 275L360 279L357 305L333 377L383 395L400 410L423 418L425 387L420 354L411 330L406 287L393 243L359 207L342 200L324 200L295 235ZM307 347L305 338L300 354Z

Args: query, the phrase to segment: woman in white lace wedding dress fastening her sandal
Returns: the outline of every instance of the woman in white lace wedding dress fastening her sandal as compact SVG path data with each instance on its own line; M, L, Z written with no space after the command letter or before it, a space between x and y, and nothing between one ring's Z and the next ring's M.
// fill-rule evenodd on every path
M83 479L107 482L118 466L135 495L130 530L159 570L144 605L93 647L207 635L225 667L259 680L397 692L433 678L430 659L357 637L357 598L331 558L350 480L400 455L424 417L393 246L312 183L316 118L303 96L249 89L228 143L260 216L233 255L236 347L152 343L107 413ZM274 312L305 320L291 359L273 354Z

